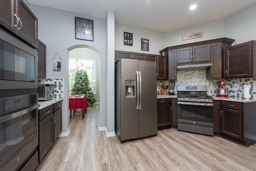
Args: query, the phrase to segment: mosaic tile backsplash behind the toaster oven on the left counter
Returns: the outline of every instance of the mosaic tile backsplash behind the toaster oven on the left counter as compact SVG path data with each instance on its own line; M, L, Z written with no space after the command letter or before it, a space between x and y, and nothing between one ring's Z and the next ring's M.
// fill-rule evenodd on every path
M54 84L54 98L63 98L63 78L39 78L38 84Z

